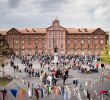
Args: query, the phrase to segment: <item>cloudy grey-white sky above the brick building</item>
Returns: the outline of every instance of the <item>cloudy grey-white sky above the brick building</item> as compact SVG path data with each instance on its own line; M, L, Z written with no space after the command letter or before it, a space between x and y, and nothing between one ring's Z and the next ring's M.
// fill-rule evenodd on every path
M110 0L0 0L0 29L46 28L56 18L63 27L110 31Z

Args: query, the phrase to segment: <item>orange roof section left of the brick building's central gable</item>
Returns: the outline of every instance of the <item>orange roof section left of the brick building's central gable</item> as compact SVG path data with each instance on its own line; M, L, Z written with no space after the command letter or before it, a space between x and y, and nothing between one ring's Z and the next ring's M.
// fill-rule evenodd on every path
M21 33L46 33L46 28L26 28L26 29L17 29Z

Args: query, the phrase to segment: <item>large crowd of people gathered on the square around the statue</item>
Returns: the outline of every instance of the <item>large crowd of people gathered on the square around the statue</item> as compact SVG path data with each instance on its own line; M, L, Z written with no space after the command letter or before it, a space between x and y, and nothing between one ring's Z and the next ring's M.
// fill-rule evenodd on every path
M82 56L82 55L59 55L58 62L54 63L54 55L37 55L37 56L22 56L22 57L11 57L10 66L13 67L14 72L19 71L19 66L14 63L14 60L18 58L22 64L25 65L24 72L27 73L28 77L36 77L40 79L40 85L46 86L45 88L57 86L57 81L62 80L64 85L67 78L69 77L69 70L77 70L79 73L94 73L98 72L98 61L100 58L98 56ZM40 69L33 68L33 61L38 61L40 64ZM48 71L45 71L45 67ZM78 80L73 80L73 86L75 89L78 86ZM29 86L28 86L29 87ZM42 94L42 89L40 91ZM35 90L36 98L39 99L38 90ZM48 93L48 92L47 92ZM88 95L89 92L87 91ZM43 97L43 94L41 95ZM88 99L90 96L88 96Z

